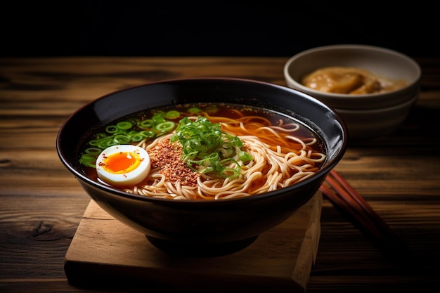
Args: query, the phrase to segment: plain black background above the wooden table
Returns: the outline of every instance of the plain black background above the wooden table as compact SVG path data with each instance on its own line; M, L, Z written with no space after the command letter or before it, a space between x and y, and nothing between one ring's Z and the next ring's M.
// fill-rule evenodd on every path
M292 56L329 44L439 56L440 13L433 5L335 3L6 2L1 56Z

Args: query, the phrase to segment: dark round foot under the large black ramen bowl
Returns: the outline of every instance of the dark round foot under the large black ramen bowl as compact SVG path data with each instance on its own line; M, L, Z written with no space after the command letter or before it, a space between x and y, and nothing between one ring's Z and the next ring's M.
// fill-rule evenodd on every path
M238 252L241 249L248 247L252 244L252 242L257 240L258 235L243 240L222 243L209 243L207 245L196 245L186 242L174 242L151 237L148 235L145 235L145 237L147 237L148 241L150 241L152 245L169 254L190 257L213 257Z

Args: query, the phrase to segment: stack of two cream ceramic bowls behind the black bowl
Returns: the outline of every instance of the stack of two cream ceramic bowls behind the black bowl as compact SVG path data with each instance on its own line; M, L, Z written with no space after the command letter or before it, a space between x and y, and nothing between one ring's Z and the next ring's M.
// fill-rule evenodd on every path
M381 93L328 93L304 86L304 75L324 67L356 67L377 77L403 79L406 86ZM390 134L406 119L420 91L421 70L412 58L376 46L322 46L292 56L284 67L287 86L312 96L344 119L349 141L365 141Z

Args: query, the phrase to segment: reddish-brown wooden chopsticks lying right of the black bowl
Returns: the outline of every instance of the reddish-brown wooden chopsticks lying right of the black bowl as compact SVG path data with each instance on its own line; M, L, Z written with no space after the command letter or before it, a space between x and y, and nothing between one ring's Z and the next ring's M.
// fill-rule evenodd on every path
M329 172L320 190L335 207L370 234L381 248L389 252L406 250L401 238L335 169Z

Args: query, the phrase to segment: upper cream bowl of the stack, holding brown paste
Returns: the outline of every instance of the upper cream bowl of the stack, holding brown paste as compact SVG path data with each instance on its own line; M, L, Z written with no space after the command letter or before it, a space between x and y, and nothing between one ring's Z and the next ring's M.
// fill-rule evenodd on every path
M403 79L408 85L384 93L352 95L326 93L301 84L305 74L323 67L357 67L387 79ZM376 46L342 44L311 48L292 56L284 67L287 86L321 100L337 109L379 109L405 103L418 94L421 70L418 63L402 53Z

